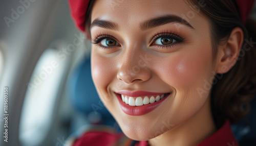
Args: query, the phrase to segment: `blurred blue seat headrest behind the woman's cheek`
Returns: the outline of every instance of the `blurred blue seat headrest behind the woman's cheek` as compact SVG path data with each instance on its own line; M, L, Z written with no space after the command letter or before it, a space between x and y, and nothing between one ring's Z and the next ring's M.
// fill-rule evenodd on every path
M84 58L69 78L68 93L72 106L78 111L88 116L99 114L102 123L107 120L114 120L109 111L104 107L99 99L91 76L90 58Z

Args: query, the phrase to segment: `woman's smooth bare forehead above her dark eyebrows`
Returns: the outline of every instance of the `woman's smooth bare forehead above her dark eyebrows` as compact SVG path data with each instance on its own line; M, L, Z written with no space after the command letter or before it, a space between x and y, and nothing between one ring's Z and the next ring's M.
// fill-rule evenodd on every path
M172 14L186 20L193 27L201 28L205 25L202 21L206 19L199 14L199 11L199 6L191 6L188 1L180 0L96 0L91 13L91 22L98 18L116 22L121 27L127 28L127 26L139 25L140 22L150 18Z

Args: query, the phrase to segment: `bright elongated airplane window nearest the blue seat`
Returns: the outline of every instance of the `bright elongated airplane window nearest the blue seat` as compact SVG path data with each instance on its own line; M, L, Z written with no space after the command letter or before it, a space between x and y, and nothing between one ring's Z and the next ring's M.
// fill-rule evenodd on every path
M19 126L22 145L39 145L46 140L52 128L54 111L61 81L67 70L66 60L58 57L58 50L48 48L39 58L30 82L27 84ZM47 141L47 140L46 140Z

